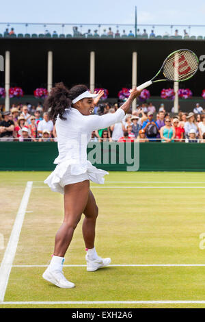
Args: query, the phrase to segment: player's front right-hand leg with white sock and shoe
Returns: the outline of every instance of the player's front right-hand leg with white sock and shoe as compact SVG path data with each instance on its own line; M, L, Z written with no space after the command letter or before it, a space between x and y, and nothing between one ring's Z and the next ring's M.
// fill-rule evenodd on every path
M85 259L87 261L87 271L96 271L101 267L105 267L111 263L110 258L100 258L94 247L96 219L98 216L98 206L92 191L89 192L87 204L84 210L85 218L83 220L83 238L87 254Z

